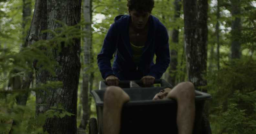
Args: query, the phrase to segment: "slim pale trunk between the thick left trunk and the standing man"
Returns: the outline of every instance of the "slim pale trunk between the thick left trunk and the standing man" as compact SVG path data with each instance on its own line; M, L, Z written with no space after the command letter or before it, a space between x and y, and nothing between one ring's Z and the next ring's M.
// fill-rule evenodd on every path
M82 119L80 128L86 129L86 126L88 124L88 120L90 118L89 113L89 82L90 82L90 72L89 69L91 67L90 65L90 58L91 58L91 0L84 0L83 3L83 17L85 20L85 28L84 31L86 31L87 36L83 38L84 40L84 68L83 68L83 86L81 91L81 102L82 102Z

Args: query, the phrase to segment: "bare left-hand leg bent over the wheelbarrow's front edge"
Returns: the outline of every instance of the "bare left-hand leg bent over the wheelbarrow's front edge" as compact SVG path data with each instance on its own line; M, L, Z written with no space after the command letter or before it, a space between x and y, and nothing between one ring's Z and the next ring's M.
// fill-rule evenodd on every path
M123 104L130 97L120 87L110 86L104 95L103 133L119 134Z

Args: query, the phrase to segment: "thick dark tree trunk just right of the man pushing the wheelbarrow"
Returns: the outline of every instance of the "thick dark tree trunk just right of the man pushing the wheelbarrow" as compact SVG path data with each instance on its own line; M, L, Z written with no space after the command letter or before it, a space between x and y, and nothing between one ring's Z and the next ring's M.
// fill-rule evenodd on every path
M207 81L203 78L207 71L207 0L184 0L184 37L186 47L187 75L196 90L206 86ZM197 133L211 133L208 117L208 107L205 107L201 128ZM195 133L195 132L194 132Z

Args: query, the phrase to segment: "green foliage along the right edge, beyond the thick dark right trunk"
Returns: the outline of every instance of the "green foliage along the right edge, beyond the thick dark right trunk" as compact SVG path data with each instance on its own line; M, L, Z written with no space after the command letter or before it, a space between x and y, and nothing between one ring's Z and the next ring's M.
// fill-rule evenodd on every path
M210 104L210 123L213 133L255 133L255 7L251 1L241 1L241 14L232 16L231 3L219 1L220 6L220 70L217 70L216 52L208 64L215 65L209 70L208 92L213 96ZM217 5L210 5L208 45L216 51L216 11ZM241 18L241 36L231 36L230 30L234 17ZM232 39L233 38L233 39ZM232 40L241 43L242 57L230 60Z

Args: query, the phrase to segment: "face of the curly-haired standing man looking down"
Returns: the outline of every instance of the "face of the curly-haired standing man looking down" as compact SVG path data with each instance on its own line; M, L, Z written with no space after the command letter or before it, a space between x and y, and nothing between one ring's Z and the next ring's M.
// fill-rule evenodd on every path
M129 14L132 17L133 26L135 26L137 29L143 29L150 16L149 12L137 12L136 10L129 11Z

